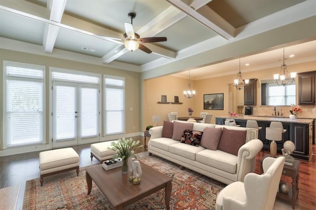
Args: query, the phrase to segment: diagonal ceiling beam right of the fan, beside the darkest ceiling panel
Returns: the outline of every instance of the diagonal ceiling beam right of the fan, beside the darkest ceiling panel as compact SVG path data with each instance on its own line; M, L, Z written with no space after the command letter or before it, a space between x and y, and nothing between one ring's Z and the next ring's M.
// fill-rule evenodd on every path
M226 39L232 39L235 37L235 28L230 25L226 20L220 17L217 13L212 11L208 6L204 5L196 11L181 0L167 0L175 7L184 11L187 15L197 20L207 28L216 32L218 35ZM207 1L204 1L204 3ZM196 5L197 6L197 5ZM200 6L200 5L199 5ZM197 6L198 7L198 6ZM209 9L207 9L209 8ZM210 14L205 13L210 12Z

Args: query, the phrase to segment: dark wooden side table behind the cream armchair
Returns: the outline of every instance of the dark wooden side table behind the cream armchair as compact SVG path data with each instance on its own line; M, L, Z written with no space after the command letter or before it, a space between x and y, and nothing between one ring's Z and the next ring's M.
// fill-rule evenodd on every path
M261 160L261 173L263 173L262 169L262 162L266 157L271 157L270 154L265 155ZM292 208L295 209L296 201L298 198L298 178L299 178L299 168L300 168L301 161L294 160L293 166L284 165L282 175L292 177L292 186L290 186L290 190L288 193L282 193L281 191L277 192L276 197L289 201L292 203Z

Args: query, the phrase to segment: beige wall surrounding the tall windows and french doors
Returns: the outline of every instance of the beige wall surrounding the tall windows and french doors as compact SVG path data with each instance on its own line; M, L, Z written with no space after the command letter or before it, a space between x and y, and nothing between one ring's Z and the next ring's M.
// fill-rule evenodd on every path
M85 63L79 63L69 60L51 58L46 56L34 55L29 53L22 53L16 52L11 50L4 50L0 49L0 110L3 108L3 84L2 84L2 77L3 77L3 66L2 61L14 61L20 63L28 63L28 64L36 64L36 65L43 65L46 68L46 139L48 141L48 129L49 129L49 67L56 67L62 69L70 69L70 70L79 70L79 71L88 71L100 74L109 74L109 75L116 75L125 77L125 131L126 134L136 133L142 131L140 129L140 73L133 72L133 71L126 71L126 70L118 70L112 69L97 65L90 65ZM102 99L102 107L103 107L103 91L101 90L101 99ZM132 110L131 110L132 108ZM102 110L102 109L101 109ZM102 111L103 112L103 111ZM0 142L2 143L2 123L4 122L2 111L0 111L0 119L1 119L1 126L0 126ZM135 128L134 128L135 127ZM102 115L102 127L101 127L101 137L104 136L103 134L103 115Z

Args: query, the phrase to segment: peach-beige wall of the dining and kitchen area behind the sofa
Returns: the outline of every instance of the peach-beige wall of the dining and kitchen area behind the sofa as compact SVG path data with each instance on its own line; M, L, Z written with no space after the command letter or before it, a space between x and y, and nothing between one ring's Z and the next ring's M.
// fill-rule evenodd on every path
M288 71L305 72L316 70L316 61L308 62L297 65L288 65ZM274 73L278 73L280 68L272 68L265 70L243 72L242 77L245 78L257 78L257 105L253 108L253 114L255 115L270 115L273 111L273 106L261 106L260 105L260 82L262 79L272 79ZM229 111L229 92L232 92L232 111L237 111L236 105L236 88L232 87L232 83L237 76L236 74L206 78L191 81L192 89L197 91L197 95L193 99L185 99L183 96L183 90L187 89L188 79L179 78L175 76L162 76L154 79L148 79L144 81L144 126L152 125L152 116L160 115L161 121L159 125L162 125L163 120L168 120L167 113L170 111L178 111L179 116L187 116L187 108L192 107L194 109L193 115L198 116L199 112L213 113L214 116L227 116ZM296 79L296 84L298 81ZM298 95L298 88L296 88L296 95ZM224 93L224 110L204 110L203 109L203 94L215 94ZM167 95L167 101L173 101L173 96L179 96L182 105L165 105L157 104L160 101L161 95ZM296 97L298 104L298 97ZM315 117L315 105L301 105L303 111L299 113L301 117ZM282 108L284 116L289 115L289 106L278 106L277 110ZM215 123L213 117L212 122Z

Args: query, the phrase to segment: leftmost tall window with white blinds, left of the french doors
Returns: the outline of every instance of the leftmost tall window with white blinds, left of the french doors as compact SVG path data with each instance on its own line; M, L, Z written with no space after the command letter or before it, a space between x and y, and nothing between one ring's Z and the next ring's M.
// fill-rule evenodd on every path
M4 147L44 141L45 67L3 61Z

